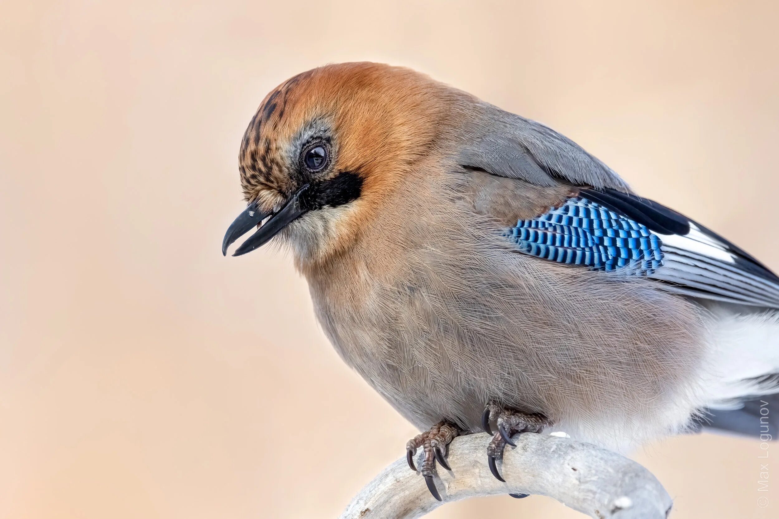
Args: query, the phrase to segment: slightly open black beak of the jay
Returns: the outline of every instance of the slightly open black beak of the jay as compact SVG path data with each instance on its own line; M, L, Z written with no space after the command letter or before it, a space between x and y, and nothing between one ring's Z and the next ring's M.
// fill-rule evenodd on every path
M238 247L233 255L240 256L241 254L254 251L256 248L266 244L268 240L276 236L280 230L284 229L287 224L308 211L308 209L302 207L300 199L301 195L303 195L307 189L308 184L305 184L305 186L298 189L298 191L295 191L294 195L292 195L292 197L287 200L287 203L284 204L284 207L277 212L259 211L256 203L252 202L249 204L249 207L247 207L244 212L241 212L241 214L238 215L238 218L227 227L227 233L225 233L224 240L222 240L222 254L226 256L227 247L230 247L235 240L238 240L238 238L245 233L248 233L252 227L258 225L263 219L270 216L268 221L241 244L241 247Z

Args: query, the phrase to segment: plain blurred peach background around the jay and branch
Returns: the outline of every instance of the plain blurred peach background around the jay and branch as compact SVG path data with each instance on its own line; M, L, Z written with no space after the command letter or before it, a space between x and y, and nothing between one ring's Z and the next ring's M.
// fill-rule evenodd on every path
M2 4L0 517L337 517L403 454L413 428L291 261L219 251L245 125L315 65L409 65L544 121L779 269L776 2L371 3ZM760 454L636 458L673 517L779 517ZM501 514L580 517L539 496L430 517Z

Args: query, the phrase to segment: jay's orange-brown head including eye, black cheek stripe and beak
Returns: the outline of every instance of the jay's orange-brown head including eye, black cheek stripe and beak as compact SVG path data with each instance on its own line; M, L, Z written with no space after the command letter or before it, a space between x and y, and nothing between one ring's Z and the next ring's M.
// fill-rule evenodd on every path
M434 149L450 119L449 90L407 68L326 65L269 93L241 142L248 202L224 237L223 254L253 251L273 237L298 264L348 247L383 195Z

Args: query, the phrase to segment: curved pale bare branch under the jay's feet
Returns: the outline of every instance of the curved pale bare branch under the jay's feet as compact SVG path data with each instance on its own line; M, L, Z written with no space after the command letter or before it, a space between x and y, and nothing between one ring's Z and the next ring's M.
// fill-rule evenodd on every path
M527 493L555 498L597 519L665 519L671 497L646 468L620 454L568 438L522 434L506 447L500 471L489 472L485 433L456 438L449 446L452 472L439 467L443 503L474 496ZM421 465L418 454L417 466ZM405 458L376 476L341 519L413 519L439 507Z

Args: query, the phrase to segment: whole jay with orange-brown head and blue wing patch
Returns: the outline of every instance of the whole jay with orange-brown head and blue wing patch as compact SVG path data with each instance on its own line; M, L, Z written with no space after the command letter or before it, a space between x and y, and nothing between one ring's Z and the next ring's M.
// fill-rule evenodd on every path
M239 164L223 253L253 227L234 256L291 249L341 358L424 431L437 499L449 441L493 426L500 479L512 435L552 425L615 450L777 425L777 275L543 124L327 65L266 96Z

